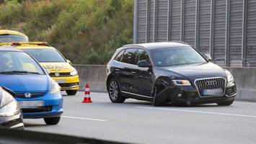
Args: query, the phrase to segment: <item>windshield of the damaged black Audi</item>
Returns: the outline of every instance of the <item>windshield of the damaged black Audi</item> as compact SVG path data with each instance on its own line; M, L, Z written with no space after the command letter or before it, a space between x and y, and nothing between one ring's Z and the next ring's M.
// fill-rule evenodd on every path
M159 67L206 63L206 60L191 47L159 48L151 50L151 58Z

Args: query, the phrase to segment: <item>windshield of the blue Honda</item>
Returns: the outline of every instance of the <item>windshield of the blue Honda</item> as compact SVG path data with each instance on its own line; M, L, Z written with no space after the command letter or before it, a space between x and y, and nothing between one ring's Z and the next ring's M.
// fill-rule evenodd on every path
M36 73L45 74L43 69L27 53L1 51L0 74L8 73Z

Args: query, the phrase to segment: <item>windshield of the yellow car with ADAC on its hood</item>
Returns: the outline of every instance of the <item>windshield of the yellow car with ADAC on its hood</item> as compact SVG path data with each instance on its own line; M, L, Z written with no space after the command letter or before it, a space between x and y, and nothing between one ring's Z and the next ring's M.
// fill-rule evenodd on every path
M30 53L37 61L43 63L47 62L66 62L63 56L54 48L35 48L24 49L27 53Z

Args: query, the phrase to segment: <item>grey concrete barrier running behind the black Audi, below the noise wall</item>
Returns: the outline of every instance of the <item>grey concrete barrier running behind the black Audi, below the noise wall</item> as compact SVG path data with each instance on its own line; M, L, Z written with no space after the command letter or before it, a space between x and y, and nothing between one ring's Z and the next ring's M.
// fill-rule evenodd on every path
M106 92L105 65L75 65L79 73L80 90L89 83L91 91ZM256 102L256 68L226 68L233 73L237 84L237 100Z

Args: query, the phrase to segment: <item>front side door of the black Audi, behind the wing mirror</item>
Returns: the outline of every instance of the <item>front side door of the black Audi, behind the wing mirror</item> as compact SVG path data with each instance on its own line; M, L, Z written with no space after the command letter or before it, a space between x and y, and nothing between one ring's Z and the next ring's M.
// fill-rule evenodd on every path
M151 63L149 59L149 54L146 50L138 49L138 55L136 56L136 63L138 60L147 60ZM135 76L133 79L133 92L141 96L151 96L151 91L154 89L153 86L153 73L152 68L140 68L136 66Z

